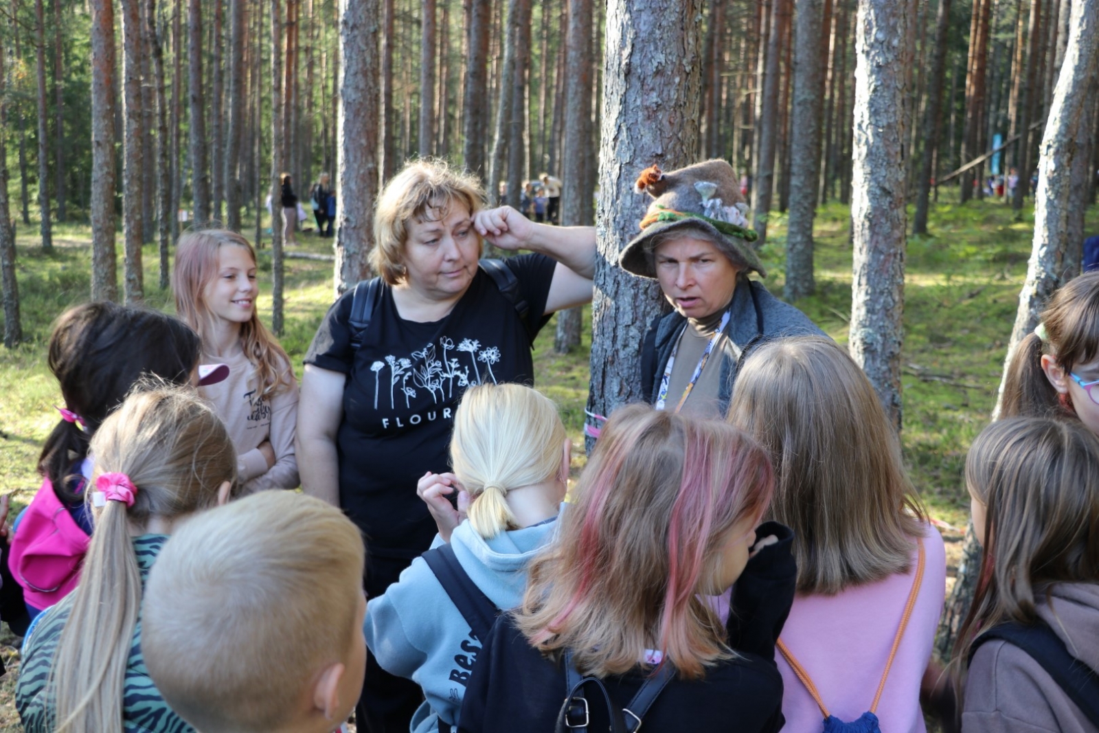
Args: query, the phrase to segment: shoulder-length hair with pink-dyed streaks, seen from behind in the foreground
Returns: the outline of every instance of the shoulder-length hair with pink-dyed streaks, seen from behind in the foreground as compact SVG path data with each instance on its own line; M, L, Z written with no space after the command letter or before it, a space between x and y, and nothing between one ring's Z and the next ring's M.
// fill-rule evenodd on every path
M558 541L531 565L519 628L548 655L571 648L586 674L623 674L655 644L682 677L702 677L732 651L698 593L732 526L762 515L773 487L764 451L731 425L617 411Z

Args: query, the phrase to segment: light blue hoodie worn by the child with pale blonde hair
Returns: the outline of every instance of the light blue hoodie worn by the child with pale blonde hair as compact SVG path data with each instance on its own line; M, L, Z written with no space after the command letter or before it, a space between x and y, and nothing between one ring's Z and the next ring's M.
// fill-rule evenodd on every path
M469 578L497 608L523 600L526 565L552 538L551 520L485 540L463 522L451 535L454 555ZM442 541L436 536L433 547ZM421 557L400 580L367 604L366 645L382 669L411 679L426 698L412 717L412 733L434 733L439 721L457 723L469 673L481 642Z

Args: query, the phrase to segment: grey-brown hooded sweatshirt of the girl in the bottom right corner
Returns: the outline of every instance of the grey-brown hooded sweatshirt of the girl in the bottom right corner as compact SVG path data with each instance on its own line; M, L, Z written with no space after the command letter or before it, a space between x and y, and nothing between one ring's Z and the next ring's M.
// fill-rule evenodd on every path
M1099 585L1058 584L1039 617L1068 653L1099 670ZM1061 687L1025 652L1001 640L974 654L965 689L962 733L1099 733Z

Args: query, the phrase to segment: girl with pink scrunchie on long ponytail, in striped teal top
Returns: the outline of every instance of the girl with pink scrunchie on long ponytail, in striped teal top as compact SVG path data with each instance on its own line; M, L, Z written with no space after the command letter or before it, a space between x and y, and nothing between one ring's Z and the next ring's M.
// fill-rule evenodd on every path
M166 386L134 391L90 449L81 580L24 641L15 706L27 733L189 733L145 669L142 588L176 522L229 499L236 454L207 403Z

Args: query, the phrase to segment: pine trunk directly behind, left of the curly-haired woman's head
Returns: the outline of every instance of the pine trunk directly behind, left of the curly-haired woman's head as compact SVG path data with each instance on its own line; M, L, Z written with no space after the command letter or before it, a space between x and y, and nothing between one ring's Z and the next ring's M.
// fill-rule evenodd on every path
M379 58L378 1L340 0L340 157L336 175L335 289L343 292L369 275L378 197Z

